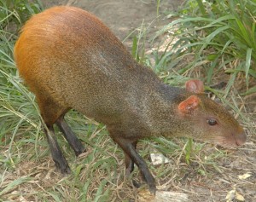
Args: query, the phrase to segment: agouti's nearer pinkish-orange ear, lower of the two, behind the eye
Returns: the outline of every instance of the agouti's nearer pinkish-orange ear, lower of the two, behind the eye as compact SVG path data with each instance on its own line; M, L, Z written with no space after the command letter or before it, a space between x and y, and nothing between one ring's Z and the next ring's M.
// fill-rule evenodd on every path
M197 107L199 107L201 100L195 95L191 95L186 100L182 101L178 105L178 111L181 113L192 113Z

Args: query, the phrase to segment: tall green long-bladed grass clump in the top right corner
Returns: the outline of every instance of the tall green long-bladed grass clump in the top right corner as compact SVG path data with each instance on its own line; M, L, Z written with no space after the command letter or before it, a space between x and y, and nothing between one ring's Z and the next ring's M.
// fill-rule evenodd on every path
M189 64L178 73L191 75L202 66L207 84L220 72L229 73L224 95L228 95L238 77L245 82L241 93L255 93L255 12L256 3L251 0L188 1L177 20L159 32L169 32L176 39L168 45L172 51L166 49L156 68L170 70L190 57Z

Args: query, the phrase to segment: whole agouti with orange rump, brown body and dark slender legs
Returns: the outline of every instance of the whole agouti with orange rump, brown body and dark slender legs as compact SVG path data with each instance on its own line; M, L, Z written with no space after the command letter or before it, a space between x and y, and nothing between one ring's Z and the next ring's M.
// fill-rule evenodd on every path
M83 9L60 6L32 16L15 44L15 61L36 95L52 158L63 173L70 168L53 124L76 155L84 152L64 119L71 108L106 124L113 141L124 150L126 173L137 164L151 193L156 191L154 177L136 151L139 139L189 136L224 147L246 141L236 119L203 95L201 81L190 80L186 89L164 84Z

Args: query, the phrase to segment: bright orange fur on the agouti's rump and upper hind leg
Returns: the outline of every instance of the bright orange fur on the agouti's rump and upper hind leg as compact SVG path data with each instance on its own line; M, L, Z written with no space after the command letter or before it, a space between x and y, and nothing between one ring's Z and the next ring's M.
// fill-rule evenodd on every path
M76 61L82 58L86 62L83 52L90 54L101 49L97 43L102 38L106 39L104 43L108 47L118 47L117 55L120 50L127 55L126 49L108 27L83 9L65 6L47 9L32 16L23 26L15 44L16 66L36 95L44 120L49 124L55 123L56 118L70 107L56 92L54 82L50 81L55 79L53 72L61 73L58 72L61 63L75 66ZM44 115L50 105L53 113Z

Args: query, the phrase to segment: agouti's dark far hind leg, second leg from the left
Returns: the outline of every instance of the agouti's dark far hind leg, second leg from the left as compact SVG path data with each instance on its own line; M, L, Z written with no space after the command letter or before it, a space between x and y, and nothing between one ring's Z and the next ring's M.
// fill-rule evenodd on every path
M85 152L85 148L82 145L81 141L79 141L79 138L73 133L73 131L70 129L67 122L65 121L64 115L61 115L61 117L56 120L55 124L58 125L69 145L73 148L76 156L79 156L79 154Z

